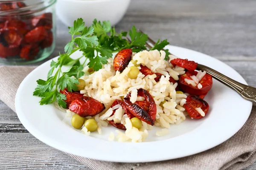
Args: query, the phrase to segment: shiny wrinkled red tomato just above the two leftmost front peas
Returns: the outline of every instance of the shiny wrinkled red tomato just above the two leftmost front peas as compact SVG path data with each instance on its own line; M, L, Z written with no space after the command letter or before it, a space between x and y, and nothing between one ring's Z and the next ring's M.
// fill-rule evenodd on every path
M73 100L70 103L69 109L81 117L86 117L101 113L105 109L105 106L96 99L83 96L81 99Z

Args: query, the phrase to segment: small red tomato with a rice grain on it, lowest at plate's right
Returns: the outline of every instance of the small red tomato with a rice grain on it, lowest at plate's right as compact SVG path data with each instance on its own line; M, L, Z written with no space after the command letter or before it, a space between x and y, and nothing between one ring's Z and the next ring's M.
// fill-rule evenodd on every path
M189 95L186 98L186 103L184 104L184 108L188 112L189 116L194 119L201 119L203 116L201 116L198 111L196 111L196 108L201 108L205 115L209 111L209 105L204 99L199 98L198 96Z

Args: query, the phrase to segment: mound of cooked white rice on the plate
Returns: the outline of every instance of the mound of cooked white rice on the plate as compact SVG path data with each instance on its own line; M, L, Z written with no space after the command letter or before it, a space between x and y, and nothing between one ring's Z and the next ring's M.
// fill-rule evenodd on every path
M130 79L127 77L130 67L134 66L132 62L129 62L127 68L122 72L115 71L113 68L113 58L108 59L108 63L102 65L102 69L95 71L93 74L88 74L87 67L84 68L85 75L81 77L86 82L84 90L80 93L84 96L92 97L99 102L104 103L105 110L102 113L94 116L98 124L98 132L102 133L102 126L108 126L108 120L113 120L116 123L121 123L125 125L125 133L116 130L117 135L110 134L109 140L113 141L116 139L119 142L131 141L131 142L143 142L148 136L148 130L151 130L152 126L145 122L142 128L139 130L132 126L130 119L125 113L125 110L121 105L115 105L110 108L115 99L121 99L121 97L126 96L131 92L130 101L132 103L136 101L143 101L144 98L137 96L137 89L143 88L147 90L157 105L156 114L156 126L171 128L172 124L179 124L186 119L186 115L183 113L185 109L183 108L184 103L186 103L186 94L176 94L175 88L177 83L169 82L169 77L175 80L179 79L180 74L185 73L185 69L179 66L173 67L173 65L164 60L164 51L141 51L136 54L132 54L132 59L137 60L137 64L143 64L150 68L153 72L158 72L163 74L159 82L156 82L154 78L155 74L145 76L141 72L137 75L136 79ZM175 56L170 55L170 58ZM140 69L140 67L138 67ZM198 77L201 77L198 75ZM199 79L198 77L194 77ZM196 79L196 80L197 80ZM185 79L186 81L186 79ZM193 85L197 85L194 80L189 80ZM166 100L163 104L163 108L160 103ZM111 116L115 110L115 113ZM83 133L90 135L90 132L83 127L81 130ZM168 129L162 129L157 132L157 136L162 136L169 133Z

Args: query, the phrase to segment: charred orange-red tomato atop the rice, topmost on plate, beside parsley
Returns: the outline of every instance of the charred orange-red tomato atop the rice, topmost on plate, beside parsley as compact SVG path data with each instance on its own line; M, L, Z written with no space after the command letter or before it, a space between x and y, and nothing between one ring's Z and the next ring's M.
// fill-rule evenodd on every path
M123 71L131 61L132 50L130 48L119 51L113 61L115 71Z

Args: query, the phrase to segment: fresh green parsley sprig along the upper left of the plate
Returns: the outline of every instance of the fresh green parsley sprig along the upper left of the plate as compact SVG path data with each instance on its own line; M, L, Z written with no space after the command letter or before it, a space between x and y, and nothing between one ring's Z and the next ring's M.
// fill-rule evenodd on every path
M83 19L79 18L74 21L72 27L69 27L71 41L64 47L64 54L60 54L57 61L50 64L47 80L38 79L37 87L33 95L40 96L40 105L47 105L57 100L58 105L66 108L66 96L61 94L59 90L67 88L68 91L77 91L78 78L84 75L82 71L85 63L89 68L98 71L102 68L102 64L106 64L107 59L113 57L113 52L120 51L125 48L131 48L134 52L145 50L145 42L148 40L146 34L137 31L135 26L131 28L128 35L131 43L125 39L127 32L122 31L116 33L115 28L111 28L109 21L93 20L93 24L89 27L84 26ZM162 50L169 42L167 40L157 41L156 45L150 50ZM72 59L70 56L76 52L82 51L83 55L78 59ZM170 54L166 51L166 60ZM84 63L80 63L81 58L85 58ZM88 62L86 62L88 60ZM64 65L70 65L70 69L62 71Z

